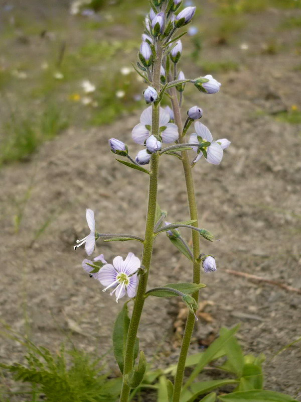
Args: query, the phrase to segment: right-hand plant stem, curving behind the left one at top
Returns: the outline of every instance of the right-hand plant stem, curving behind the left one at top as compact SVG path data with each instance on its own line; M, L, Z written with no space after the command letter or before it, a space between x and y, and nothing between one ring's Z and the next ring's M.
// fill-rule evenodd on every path
M181 112L180 112L176 88L171 89L171 95L172 95L172 106L173 106L174 115L175 115L175 122L178 126L178 130L180 133L179 143L182 144L182 143L185 143L185 137L181 136L181 133L183 132L183 126L182 126ZM187 151L182 151L181 154L182 154L182 158L183 158L182 164L183 164L184 176L185 176L185 182L186 182L190 219L195 220L196 222L193 224L193 226L198 227L198 210L197 210L189 156L188 156ZM195 230L192 230L192 244L193 244L193 282L199 283L201 274L200 274L200 262L197 261L197 258L200 255L200 235ZM195 293L193 293L192 296L195 298L196 302L198 302L199 291L196 291ZM172 399L173 402L180 401L180 395L181 395L181 389L182 389L182 383L183 383L183 377L184 377L185 362L186 362L186 357L187 357L187 353L188 353L188 349L189 349L189 345L190 345L191 336L193 333L194 323L195 323L195 317L192 314L192 312L189 312L187 321L186 321L184 335L183 335L180 356L179 356L179 360L178 360L178 367L177 367L177 372L176 372L176 377L175 377L174 392L173 392L173 399Z

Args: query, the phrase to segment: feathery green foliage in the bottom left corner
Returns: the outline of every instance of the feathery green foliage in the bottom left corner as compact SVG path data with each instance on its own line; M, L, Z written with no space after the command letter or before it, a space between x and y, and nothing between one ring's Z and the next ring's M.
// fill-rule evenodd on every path
M1 366L16 381L32 384L33 393L45 394L48 402L115 402L120 392L120 379L108 379L101 359L62 347L57 354L30 344L27 364ZM35 391L37 389L37 391Z

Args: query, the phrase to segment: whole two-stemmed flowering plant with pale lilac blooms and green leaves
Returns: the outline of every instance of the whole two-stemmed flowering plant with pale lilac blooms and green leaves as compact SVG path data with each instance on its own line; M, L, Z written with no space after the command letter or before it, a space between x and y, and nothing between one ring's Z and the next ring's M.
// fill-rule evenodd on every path
M285 399L285 395L281 396L276 392L261 390L262 381L258 378L261 375L259 372L261 373L262 360L244 359L237 341L233 338L237 327L231 330L222 329L221 336L202 354L194 371L183 386L184 369L189 365L187 362L188 349L197 319L195 311L198 309L199 290L205 287L200 283L201 267L205 273L217 269L215 258L201 253L200 250L200 239L213 241L214 236L206 229L199 228L192 169L199 160L202 163L202 160L206 159L207 162L214 165L221 163L223 151L229 147L230 141L226 138L213 140L209 129L199 121L203 116L203 111L199 106L192 106L187 112L186 120L182 121L183 93L187 85L193 84L201 94L215 94L220 90L221 84L212 75L187 79L183 71L178 72L178 64L183 51L180 38L186 33L179 32L179 30L192 21L196 12L196 7L186 7L180 10L181 5L181 0L151 0L151 9L144 21L138 60L133 67L145 83L144 99L146 105L150 104L150 106L141 113L140 123L133 127L131 133L132 140L143 148L135 157L131 157L126 144L116 138L109 140L110 149L118 156L116 158L118 162L147 174L149 177L144 236L98 233L95 229L94 213L88 209L86 218L90 234L82 240L78 240L78 244L74 248L85 244L87 254L91 255L98 239L135 240L143 245L141 262L133 253L129 252L124 260L121 256L116 256L112 264L107 263L102 254L93 260L85 259L82 263L84 270L104 287L103 291L108 289L110 295L114 294L117 303L126 294L130 298L121 309L113 330L114 355L123 376L120 402L131 400L135 390L142 386L141 384L149 385L146 376L146 360L142 351L140 351L138 363L135 365L138 355L139 321L144 300L149 296L178 296L189 309L178 364L175 370L172 370L174 382L171 382L166 376L161 377L163 379L160 380L160 384L164 384L164 389L166 389L166 399L161 400L193 402L200 400L200 395L205 395L202 399L204 402L214 402L217 395L210 392L223 384L235 384L237 387L234 392L228 393L226 396L218 396L222 401L292 400ZM162 108L163 99L169 100L170 106ZM186 135L192 123L194 123L194 132L187 140ZM163 148L163 144L169 145ZM189 151L194 151L196 156L191 157ZM159 161L161 163L167 155L178 158L184 171L190 216L183 222L166 221L167 214L157 204ZM120 159L120 156L124 159ZM142 167L148 164L149 169ZM181 235L180 228L182 227L191 230L192 248ZM191 264L192 279L188 283L158 283L157 287L147 289L154 240L162 233L166 233L172 244ZM133 302L133 310L129 318L127 304L130 301ZM211 382L211 385L202 384L202 386L194 387L196 384L193 381L205 364L221 356L228 358L227 364L225 363L222 367L226 371L234 373L236 378L216 382L207 381Z

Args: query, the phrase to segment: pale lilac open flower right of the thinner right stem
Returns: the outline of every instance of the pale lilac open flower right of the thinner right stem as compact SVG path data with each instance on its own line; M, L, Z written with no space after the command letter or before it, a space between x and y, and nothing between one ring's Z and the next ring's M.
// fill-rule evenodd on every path
M204 154L207 162L213 163L214 165L220 164L223 158L222 146L218 142L213 141L213 137L209 129L201 122L195 123L195 130L196 133L193 133L189 139L191 144L200 144L200 147L193 147L193 149L198 152L197 157L194 159L194 163L201 159L202 155ZM204 145L207 143L207 145L202 147L202 143L204 143ZM208 145L208 143L210 143L210 145Z

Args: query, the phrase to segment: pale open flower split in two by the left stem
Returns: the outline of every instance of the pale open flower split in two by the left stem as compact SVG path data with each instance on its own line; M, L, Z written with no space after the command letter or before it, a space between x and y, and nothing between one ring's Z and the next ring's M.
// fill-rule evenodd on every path
M169 123L170 114L160 108L159 127L162 142L170 144L179 138L178 127L174 123ZM140 116L140 123L132 130L132 139L135 143L143 145L150 136L152 130L152 107L145 109Z

